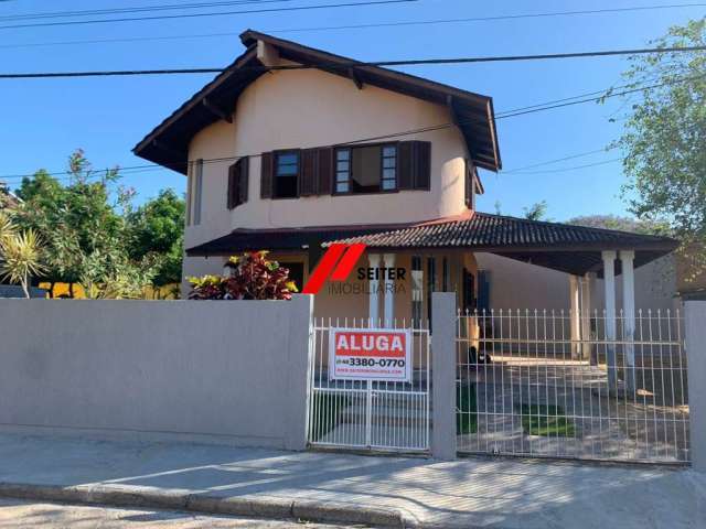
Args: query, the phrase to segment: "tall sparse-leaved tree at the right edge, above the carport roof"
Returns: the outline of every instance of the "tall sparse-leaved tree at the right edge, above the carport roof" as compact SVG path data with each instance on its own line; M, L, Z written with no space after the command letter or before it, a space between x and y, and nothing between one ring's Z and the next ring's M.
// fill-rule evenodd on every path
M706 45L706 18L671 28L657 47ZM628 111L621 148L623 196L640 219L666 219L682 250L706 245L706 52L630 57L621 96ZM606 96L616 90L609 90ZM605 98L603 98L605 100Z

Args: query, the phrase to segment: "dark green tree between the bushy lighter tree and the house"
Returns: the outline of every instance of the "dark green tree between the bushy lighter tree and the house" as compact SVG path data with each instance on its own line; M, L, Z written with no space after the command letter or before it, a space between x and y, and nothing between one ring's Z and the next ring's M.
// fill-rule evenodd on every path
M139 260L157 253L162 257L153 284L178 283L184 252L185 201L173 190L162 190L156 198L127 215L129 252Z

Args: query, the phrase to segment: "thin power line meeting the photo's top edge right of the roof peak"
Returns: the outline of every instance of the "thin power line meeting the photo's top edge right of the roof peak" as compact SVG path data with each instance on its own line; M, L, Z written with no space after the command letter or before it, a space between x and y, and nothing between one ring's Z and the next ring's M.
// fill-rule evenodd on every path
M64 22L36 22L32 24L14 24L14 25L0 25L0 30L17 30L22 28L46 28L57 25L87 25L87 24L106 24L116 22L143 22L149 20L173 20L173 19L196 19L204 17L223 17L229 14L248 14L248 13L276 13L276 12L290 12L290 11L309 11L312 9L332 9L332 8L354 8L363 6L379 6L389 3L409 3L418 2L419 0L366 0L364 2L347 2L347 3L329 3L322 6L298 6L287 8L268 8L268 9L253 9L245 11L218 11L208 13L182 13L182 14L159 14L154 17L122 17L119 19L95 19L95 20L73 20Z

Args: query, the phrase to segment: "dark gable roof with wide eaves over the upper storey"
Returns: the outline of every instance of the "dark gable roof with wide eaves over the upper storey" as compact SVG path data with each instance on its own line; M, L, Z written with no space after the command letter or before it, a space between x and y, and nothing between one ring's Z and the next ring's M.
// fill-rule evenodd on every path
M447 106L463 134L473 163L491 171L498 171L502 166L493 100L488 96L366 65L253 30L240 34L240 41L247 47L245 53L147 134L132 149L136 155L186 174L189 142L194 134L221 120L222 116L231 116L243 90L267 72L257 58L257 42L263 41L274 46L281 58L311 65L342 77L352 77L363 85Z

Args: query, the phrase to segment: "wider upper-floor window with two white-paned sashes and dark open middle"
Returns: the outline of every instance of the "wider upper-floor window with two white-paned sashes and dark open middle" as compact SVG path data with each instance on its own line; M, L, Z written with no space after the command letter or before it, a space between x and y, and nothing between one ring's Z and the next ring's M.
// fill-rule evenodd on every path
M396 190L396 145L365 145L336 149L336 193L379 193Z

